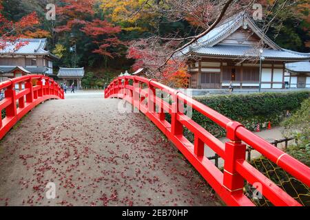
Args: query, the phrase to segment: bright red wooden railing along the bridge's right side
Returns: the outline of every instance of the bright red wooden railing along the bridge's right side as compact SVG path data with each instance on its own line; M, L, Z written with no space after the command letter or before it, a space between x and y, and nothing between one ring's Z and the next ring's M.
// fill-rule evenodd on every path
M171 104L162 97L156 96L156 89L169 94L172 97ZM246 161L244 143L252 146L307 186L310 186L310 168L245 129L242 124L231 121L180 91L158 83L156 80L138 76L114 79L105 89L105 98L122 98L145 113L185 155L227 205L254 206L243 192L246 180L252 186L261 186L257 190L275 206L301 206L298 201ZM182 104L192 107L223 127L230 141L223 144L203 129L183 113L183 109L179 107ZM157 111L155 111L156 108ZM165 118L164 110L171 115L171 123ZM194 144L183 135L183 127L194 133ZM225 160L223 172L207 159L204 153L205 145Z

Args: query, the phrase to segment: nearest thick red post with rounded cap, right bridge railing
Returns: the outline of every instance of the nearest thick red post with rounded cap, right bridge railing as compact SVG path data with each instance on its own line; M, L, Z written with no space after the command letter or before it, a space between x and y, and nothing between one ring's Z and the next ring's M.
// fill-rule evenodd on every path
M227 124L227 138L231 140L225 143L225 164L224 164L224 187L234 195L243 194L244 179L236 171L236 160L245 159L246 145L236 136L236 129L242 126L239 122Z

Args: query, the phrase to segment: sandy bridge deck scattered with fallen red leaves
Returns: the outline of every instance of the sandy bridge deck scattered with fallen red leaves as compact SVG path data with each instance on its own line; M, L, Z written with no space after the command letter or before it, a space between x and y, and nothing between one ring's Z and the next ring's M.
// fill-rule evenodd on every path
M0 142L0 205L221 205L156 126L118 102L68 94L26 115Z

